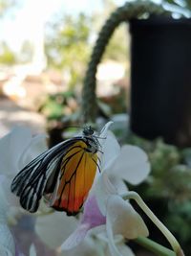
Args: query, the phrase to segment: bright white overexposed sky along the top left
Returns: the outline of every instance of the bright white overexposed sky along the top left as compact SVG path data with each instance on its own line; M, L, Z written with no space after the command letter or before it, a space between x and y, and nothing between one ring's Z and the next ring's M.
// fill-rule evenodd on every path
M8 12L6 18L0 21L0 40L5 40L13 51L19 51L25 39L32 40L37 29L46 23L53 14L62 10L65 13L86 12L91 14L101 11L101 0L22 0L19 8ZM125 0L115 0L117 6Z

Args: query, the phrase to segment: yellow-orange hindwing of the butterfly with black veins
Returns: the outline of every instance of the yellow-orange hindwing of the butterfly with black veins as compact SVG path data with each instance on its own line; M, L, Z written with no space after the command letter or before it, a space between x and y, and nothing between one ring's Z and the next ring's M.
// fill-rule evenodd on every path
M96 167L96 153L86 151L83 141L75 142L61 162L56 199L52 207L66 211L67 215L78 213L93 185Z

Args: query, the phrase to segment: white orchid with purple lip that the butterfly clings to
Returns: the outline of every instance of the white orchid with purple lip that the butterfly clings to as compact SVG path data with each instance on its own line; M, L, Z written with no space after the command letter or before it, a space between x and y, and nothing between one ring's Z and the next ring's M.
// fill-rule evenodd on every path
M123 255L124 251L125 253L128 251L126 255L134 255L131 249L124 244L124 238L130 240L138 236L148 236L148 229L131 204L123 200L119 194L127 191L122 178L138 184L150 172L150 165L144 151L137 147L124 146L120 150L115 136L109 131L102 151L102 174L98 176L85 202L84 213L78 227L61 245L61 249L70 251L74 246L78 247L78 244L82 243L86 235L90 234L96 226L104 226L105 235L102 237L105 236L104 239L108 244L106 254L119 256ZM119 241L117 241L117 236L120 236Z

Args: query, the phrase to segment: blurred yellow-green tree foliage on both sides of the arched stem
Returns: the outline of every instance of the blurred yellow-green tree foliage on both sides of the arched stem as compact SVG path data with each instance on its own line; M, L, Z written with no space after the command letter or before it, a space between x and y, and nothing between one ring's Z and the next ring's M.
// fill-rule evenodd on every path
M82 83L96 35L105 22L106 13L109 16L116 7L113 1L106 2L103 12L93 13L91 17L83 13L74 16L60 13L46 27L48 66L61 70L70 88ZM112 36L104 60L127 62L128 41L127 27L123 24Z

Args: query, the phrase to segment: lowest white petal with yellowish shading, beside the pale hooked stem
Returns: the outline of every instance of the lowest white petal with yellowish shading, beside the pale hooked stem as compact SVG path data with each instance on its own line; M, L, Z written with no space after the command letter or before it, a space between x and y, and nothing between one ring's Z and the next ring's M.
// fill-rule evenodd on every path
M130 203L115 195L108 198L106 232L111 256L123 255L120 251L121 247L117 246L115 239L117 234L128 239L148 235L146 225ZM134 255L131 251L128 251L128 253Z

